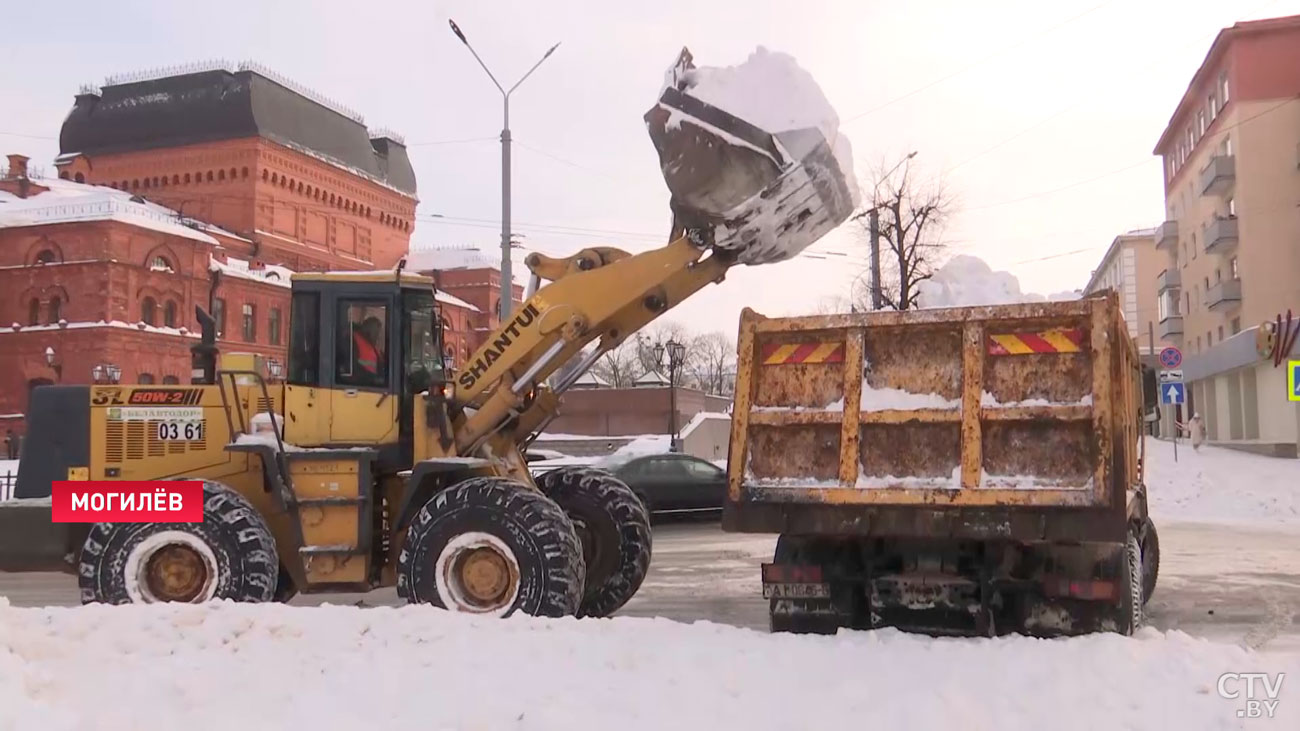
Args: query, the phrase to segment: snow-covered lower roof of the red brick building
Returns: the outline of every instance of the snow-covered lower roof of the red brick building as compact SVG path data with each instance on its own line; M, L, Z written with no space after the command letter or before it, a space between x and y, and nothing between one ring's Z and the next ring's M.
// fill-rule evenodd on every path
M135 196L125 190L61 178L34 182L49 190L30 198L0 191L0 229L77 221L118 221L204 243L217 243L217 239L204 233L204 229L209 229L207 224L185 219L157 203L144 199L134 202L131 199Z

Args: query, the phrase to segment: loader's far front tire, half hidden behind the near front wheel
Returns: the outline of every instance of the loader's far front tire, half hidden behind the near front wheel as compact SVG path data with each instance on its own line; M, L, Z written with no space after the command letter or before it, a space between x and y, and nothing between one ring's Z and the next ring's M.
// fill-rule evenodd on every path
M650 570L650 514L632 488L592 467L564 467L537 477L577 531L586 565L578 617L608 617L641 588Z

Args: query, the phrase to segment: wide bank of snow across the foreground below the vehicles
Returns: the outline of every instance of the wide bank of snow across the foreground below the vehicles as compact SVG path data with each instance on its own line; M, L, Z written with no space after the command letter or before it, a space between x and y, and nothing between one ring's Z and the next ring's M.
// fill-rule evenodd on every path
M998 731L1243 727L1219 674L1284 671L1180 632L1069 640L766 635L432 607L12 609L0 728ZM1283 685L1270 728L1300 727Z

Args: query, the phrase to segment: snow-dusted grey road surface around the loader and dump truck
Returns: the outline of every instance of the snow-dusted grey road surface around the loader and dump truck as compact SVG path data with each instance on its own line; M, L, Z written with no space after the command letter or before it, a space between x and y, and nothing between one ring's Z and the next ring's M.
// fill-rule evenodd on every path
M1265 650L1300 652L1300 532L1282 528L1161 523L1161 572L1150 624ZM758 565L772 536L723 533L716 523L655 529L655 554L641 592L620 613L679 622L767 628ZM75 580L58 574L0 574L14 606L74 606ZM391 589L296 597L299 606L364 602L398 606Z

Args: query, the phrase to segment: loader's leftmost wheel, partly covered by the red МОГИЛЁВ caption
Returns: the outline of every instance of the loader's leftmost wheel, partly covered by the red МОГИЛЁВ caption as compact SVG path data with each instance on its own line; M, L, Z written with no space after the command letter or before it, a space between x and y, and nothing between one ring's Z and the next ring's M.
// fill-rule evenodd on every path
M77 568L82 604L272 601L280 558L257 510L203 483L203 523L98 523Z

